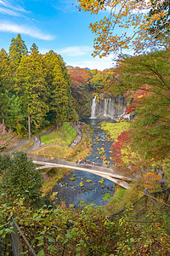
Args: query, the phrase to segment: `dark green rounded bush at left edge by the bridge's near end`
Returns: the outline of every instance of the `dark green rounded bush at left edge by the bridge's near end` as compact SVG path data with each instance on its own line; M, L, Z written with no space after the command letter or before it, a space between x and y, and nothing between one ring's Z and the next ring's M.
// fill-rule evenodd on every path
M23 152L0 155L1 203L13 204L22 198L26 205L36 207L41 201L42 176Z

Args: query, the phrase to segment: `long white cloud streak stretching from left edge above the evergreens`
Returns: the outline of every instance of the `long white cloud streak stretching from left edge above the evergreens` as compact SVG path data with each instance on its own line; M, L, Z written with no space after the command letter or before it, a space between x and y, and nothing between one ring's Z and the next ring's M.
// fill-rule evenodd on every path
M38 38L42 40L53 40L54 37L49 34L45 34L38 30L36 27L30 27L30 26L20 26L14 23L3 22L0 20L0 31L2 32L15 32L20 34L25 34L28 36L31 36L31 38Z

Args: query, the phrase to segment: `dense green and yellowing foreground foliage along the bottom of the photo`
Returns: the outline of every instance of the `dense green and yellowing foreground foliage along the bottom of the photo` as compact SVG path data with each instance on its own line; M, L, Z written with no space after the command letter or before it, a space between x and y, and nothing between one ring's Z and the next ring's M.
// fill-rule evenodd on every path
M13 210L31 247L39 255L168 255L169 216L162 208L150 209L144 216L152 223L127 222L129 210L123 218L110 220L102 207L81 205L81 208L30 209L21 201L13 207L0 206L0 233L8 238L8 213ZM129 216L128 216L129 218ZM142 220L144 218L141 218ZM154 222L156 219L160 223ZM161 245L161 246L160 246ZM26 243L22 242L24 252Z

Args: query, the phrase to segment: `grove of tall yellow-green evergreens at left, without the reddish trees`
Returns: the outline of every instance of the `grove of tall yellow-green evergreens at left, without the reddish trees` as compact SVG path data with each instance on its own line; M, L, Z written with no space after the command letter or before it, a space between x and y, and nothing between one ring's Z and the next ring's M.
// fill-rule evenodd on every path
M62 57L53 50L43 56L36 44L28 55L19 34L11 41L9 55L0 51L0 122L31 139L31 131L45 125L77 121L70 85Z

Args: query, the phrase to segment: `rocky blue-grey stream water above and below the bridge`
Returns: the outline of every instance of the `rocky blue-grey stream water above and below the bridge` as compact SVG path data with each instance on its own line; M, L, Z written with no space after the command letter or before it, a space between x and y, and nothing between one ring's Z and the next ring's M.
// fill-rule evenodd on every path
M89 122L93 124L94 134L92 137L93 146L91 154L86 160L90 162L94 161L95 164L102 164L103 162L100 159L101 154L99 154L101 150L99 150L99 148L102 148L102 150L105 148L106 160L111 162L111 153L109 151L112 142L108 140L106 132L99 128L99 119L88 119L88 123ZM83 184L83 186L81 187L80 184ZM57 192L56 203L60 204L61 201L65 201L66 207L68 207L69 204L74 204L75 207L78 207L81 201L102 206L108 202L105 201L105 193L113 195L114 191L114 183L111 181L102 179L102 177L89 172L77 170L59 180L52 190L52 192Z

